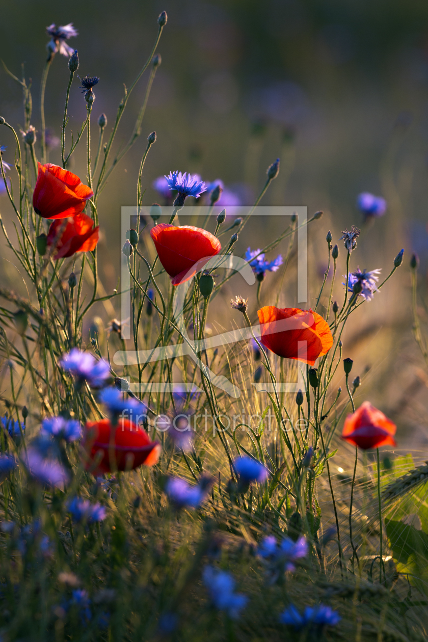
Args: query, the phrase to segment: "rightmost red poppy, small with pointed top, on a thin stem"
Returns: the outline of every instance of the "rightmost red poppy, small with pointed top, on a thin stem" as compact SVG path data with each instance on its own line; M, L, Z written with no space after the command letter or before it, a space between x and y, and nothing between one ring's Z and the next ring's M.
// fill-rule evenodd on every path
M358 446L363 450L368 448L378 448L379 446L397 446L393 435L397 426L377 410L368 401L348 415L343 426L342 439L346 439L350 444Z

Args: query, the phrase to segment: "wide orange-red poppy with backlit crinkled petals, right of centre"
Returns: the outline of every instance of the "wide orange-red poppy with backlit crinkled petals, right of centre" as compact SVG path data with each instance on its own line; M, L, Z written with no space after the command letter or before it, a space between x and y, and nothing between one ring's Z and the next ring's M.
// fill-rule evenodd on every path
M329 324L311 309L266 306L257 315L261 343L280 357L314 365L333 345Z

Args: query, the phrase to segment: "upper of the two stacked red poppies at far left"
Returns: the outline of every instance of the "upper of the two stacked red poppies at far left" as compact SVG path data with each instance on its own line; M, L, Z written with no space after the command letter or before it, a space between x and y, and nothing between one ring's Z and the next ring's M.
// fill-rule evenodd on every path
M85 209L94 192L83 185L76 174L48 162L39 163L39 173L33 193L33 207L43 218L67 218Z

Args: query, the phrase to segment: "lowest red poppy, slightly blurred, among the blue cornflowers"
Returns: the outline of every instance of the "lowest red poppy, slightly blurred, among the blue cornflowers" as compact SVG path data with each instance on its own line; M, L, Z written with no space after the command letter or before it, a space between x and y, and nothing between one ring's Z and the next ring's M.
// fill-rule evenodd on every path
M87 468L93 466L97 453L102 454L94 474L153 466L160 455L160 444L151 442L146 431L128 419L119 419L114 427L109 419L87 422L82 446L89 458Z

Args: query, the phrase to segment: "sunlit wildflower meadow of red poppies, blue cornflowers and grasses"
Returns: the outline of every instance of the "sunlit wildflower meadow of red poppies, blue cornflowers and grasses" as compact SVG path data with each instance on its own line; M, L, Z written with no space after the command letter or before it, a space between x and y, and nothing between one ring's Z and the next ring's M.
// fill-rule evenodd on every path
M109 89L83 75L74 23L47 26L37 79L2 53L23 112L21 126L0 114L2 247L19 279L0 284L0 641L422 642L428 464L400 451L346 333L406 278L428 378L420 260L389 243L363 265L383 196L361 192L335 236L323 211L266 207L280 158L252 202L185 158L163 157L148 185L167 13L151 26L115 113L96 109ZM54 68L64 110L49 123ZM103 191L138 146L107 288Z

